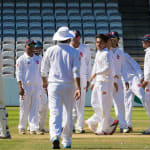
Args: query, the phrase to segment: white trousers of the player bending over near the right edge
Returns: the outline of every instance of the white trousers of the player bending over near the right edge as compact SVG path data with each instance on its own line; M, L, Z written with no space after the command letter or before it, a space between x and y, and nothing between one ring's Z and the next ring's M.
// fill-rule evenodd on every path
M138 77L133 77L129 80L129 90L124 90L125 100L125 119L128 127L132 127L132 107L135 95L145 105L145 92Z

